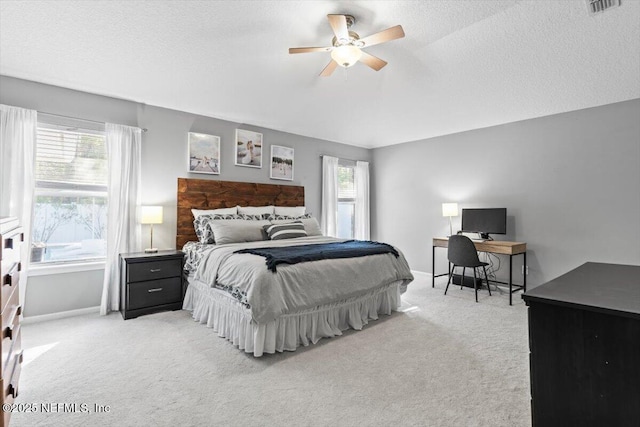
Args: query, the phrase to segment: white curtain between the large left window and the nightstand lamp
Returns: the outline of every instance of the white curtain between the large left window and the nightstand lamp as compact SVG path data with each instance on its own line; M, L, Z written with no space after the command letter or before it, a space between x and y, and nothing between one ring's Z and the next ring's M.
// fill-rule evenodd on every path
M100 314L120 307L121 253L141 250L140 160L142 131L139 128L106 123L109 163L107 213L107 259Z

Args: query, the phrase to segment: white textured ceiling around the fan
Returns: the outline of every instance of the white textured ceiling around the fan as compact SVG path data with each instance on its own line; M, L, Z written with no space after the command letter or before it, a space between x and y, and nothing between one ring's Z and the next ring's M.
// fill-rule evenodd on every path
M328 13L389 62L318 77ZM0 74L379 147L640 98L640 1L0 1Z

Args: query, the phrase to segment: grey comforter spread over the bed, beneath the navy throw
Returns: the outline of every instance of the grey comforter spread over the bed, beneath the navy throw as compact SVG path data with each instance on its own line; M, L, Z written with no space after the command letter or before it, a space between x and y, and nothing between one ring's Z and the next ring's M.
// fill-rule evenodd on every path
M265 258L234 254L238 249L329 243L339 239L313 236L278 241L258 241L201 248L194 279L209 287L225 287L246 297L255 322L358 298L392 283L404 286L413 280L404 256L369 255L280 265L267 269Z

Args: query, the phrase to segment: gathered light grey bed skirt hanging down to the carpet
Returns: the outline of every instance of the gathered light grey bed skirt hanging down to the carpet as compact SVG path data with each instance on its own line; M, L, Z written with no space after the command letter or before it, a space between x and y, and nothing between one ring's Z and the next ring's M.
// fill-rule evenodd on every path
M349 328L360 330L380 314L391 314L400 306L401 284L402 281L390 283L344 301L256 323L251 311L226 292L190 280L183 309L191 311L195 321L206 324L219 337L260 357L264 353L295 351L300 345L342 335Z

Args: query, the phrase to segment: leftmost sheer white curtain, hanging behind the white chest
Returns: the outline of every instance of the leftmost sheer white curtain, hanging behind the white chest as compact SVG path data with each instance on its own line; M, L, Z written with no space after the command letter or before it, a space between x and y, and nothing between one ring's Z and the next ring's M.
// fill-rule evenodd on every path
M37 131L37 111L0 104L0 216L17 217L24 230L19 295L23 307L31 259Z

